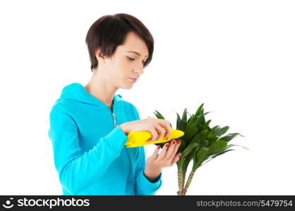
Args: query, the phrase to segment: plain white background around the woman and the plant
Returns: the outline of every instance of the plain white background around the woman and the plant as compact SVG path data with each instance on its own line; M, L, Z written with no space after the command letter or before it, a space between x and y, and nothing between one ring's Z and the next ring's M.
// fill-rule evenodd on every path
M210 126L246 136L231 142L250 151L200 167L187 195L294 194L294 11L270 0L1 1L0 194L62 194L49 110L64 86L89 81L86 33L114 13L135 15L155 39L145 74L116 92L142 119L159 110L175 127L175 111L205 103ZM176 195L176 170L164 168L156 195Z

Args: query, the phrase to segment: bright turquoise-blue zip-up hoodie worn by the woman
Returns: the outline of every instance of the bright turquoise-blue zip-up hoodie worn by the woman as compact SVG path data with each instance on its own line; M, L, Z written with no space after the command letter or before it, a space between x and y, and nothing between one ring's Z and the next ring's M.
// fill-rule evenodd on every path
M144 146L126 148L119 124L140 120L132 103L115 94L113 110L69 84L51 108L49 138L63 195L155 195L162 173L145 177Z

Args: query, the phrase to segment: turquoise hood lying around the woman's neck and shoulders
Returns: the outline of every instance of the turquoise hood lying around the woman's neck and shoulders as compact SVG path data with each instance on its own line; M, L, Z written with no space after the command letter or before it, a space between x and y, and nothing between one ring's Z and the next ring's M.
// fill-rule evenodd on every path
M92 96L86 89L83 87L82 84L79 83L72 83L68 84L64 89L61 91L61 96L56 101L62 101L62 100L73 100L73 101L79 101L81 103L87 103L92 104L95 106L99 106L100 108L108 108L105 103L100 101L99 99L95 98L95 96ZM113 98L113 107L115 104L117 104L119 101L122 101L122 96L119 94L115 94Z

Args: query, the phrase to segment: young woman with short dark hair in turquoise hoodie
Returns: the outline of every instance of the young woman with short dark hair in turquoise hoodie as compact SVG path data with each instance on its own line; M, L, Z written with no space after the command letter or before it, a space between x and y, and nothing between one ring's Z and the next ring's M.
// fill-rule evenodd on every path
M50 112L49 137L63 195L155 195L162 168L174 165L180 141L167 143L145 161L144 147L126 148L128 133L167 138L167 120L140 120L116 90L131 89L152 60L154 41L136 17L104 15L90 27L86 44L92 77L69 84Z

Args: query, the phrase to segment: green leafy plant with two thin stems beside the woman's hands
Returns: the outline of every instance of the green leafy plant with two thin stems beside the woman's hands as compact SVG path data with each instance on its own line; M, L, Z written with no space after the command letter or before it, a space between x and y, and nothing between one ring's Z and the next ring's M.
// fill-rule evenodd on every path
M186 191L188 191L193 175L199 167L204 165L205 162L217 158L219 155L234 151L235 149L232 147L239 145L228 144L229 141L236 136L243 136L239 133L225 135L229 126L220 127L219 125L216 125L211 128L209 126L211 120L205 120L205 115L210 112L204 113L203 105L204 103L198 107L198 110L193 115L188 113L187 108L183 110L182 117L176 113L176 129L180 129L184 132L184 135L179 138L181 139L181 145L177 151L177 153L181 153L181 158L176 162L179 184L179 191L177 191L177 194L179 196L186 195ZM157 110L155 110L154 114L158 119L164 119L161 113ZM188 117L188 115L190 115L190 117ZM155 145L163 146L164 143L155 143ZM246 149L248 150L248 148ZM193 167L185 184L187 168L192 160Z

